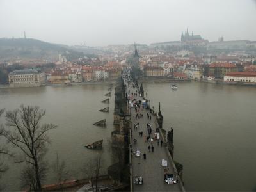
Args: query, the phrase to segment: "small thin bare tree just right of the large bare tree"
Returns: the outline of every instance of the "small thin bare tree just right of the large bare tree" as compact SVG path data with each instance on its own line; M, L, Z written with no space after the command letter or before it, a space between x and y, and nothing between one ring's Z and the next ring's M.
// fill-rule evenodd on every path
M52 170L54 171L56 181L60 185L61 191L63 191L62 184L67 181L69 173L65 161L60 162L58 154L56 154L56 160L52 164Z

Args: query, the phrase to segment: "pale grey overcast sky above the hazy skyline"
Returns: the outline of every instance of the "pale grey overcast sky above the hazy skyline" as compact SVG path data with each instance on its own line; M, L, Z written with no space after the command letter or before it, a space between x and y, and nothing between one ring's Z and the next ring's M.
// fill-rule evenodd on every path
M180 40L186 28L210 41L256 40L256 1L0 0L0 38L150 44Z

